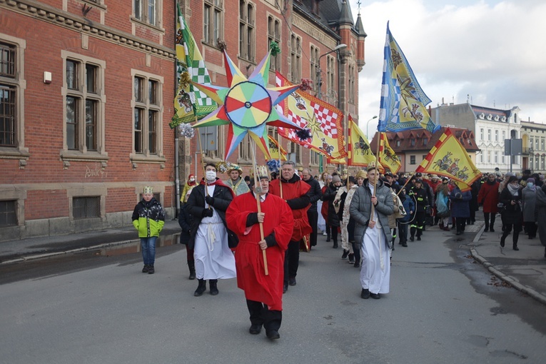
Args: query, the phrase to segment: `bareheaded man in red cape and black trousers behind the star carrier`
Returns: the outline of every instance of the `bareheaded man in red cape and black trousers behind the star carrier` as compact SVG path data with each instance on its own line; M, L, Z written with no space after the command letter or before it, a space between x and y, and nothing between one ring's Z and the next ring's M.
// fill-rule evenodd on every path
M300 263L300 241L313 231L307 218L310 207L309 190L310 186L295 173L293 161L285 161L280 170L280 178L269 184L269 192L286 201L294 217L294 231L284 258L283 292L288 290L288 285L295 285L295 275Z

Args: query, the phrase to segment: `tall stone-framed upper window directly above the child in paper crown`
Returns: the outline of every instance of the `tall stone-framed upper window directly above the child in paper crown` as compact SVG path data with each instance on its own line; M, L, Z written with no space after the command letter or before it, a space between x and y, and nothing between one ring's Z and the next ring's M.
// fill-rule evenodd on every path
M163 78L141 71L133 73L133 153L132 158L163 155Z

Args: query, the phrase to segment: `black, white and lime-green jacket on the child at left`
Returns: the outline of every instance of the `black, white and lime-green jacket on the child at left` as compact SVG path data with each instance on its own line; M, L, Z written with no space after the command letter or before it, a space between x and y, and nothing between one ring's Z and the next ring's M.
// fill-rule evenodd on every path
M138 238L159 236L165 225L165 211L155 198L149 202L140 201L133 211L133 226L138 230Z

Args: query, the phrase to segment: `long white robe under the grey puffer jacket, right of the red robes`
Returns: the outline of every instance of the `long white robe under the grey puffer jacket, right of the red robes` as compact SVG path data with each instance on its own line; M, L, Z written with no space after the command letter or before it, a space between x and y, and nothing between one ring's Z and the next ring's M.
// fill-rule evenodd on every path
M370 186L373 195L373 186ZM390 254L387 237L381 228L378 211L374 211L375 226L366 228L362 238L362 268L360 269L360 284L370 293L389 293Z

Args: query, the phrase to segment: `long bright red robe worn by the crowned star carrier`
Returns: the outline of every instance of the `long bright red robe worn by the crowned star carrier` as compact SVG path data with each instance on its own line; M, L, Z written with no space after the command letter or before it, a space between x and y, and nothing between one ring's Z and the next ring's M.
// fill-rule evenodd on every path
M269 193L261 203L266 214L263 221L264 237L275 233L277 245L266 249L268 273L263 266L260 225L246 226L249 213L258 212L256 196L243 193L229 204L226 211L228 228L237 234L239 244L235 251L237 286L245 291L248 300L265 303L270 310L283 310L284 252L288 248L294 220L288 203Z

